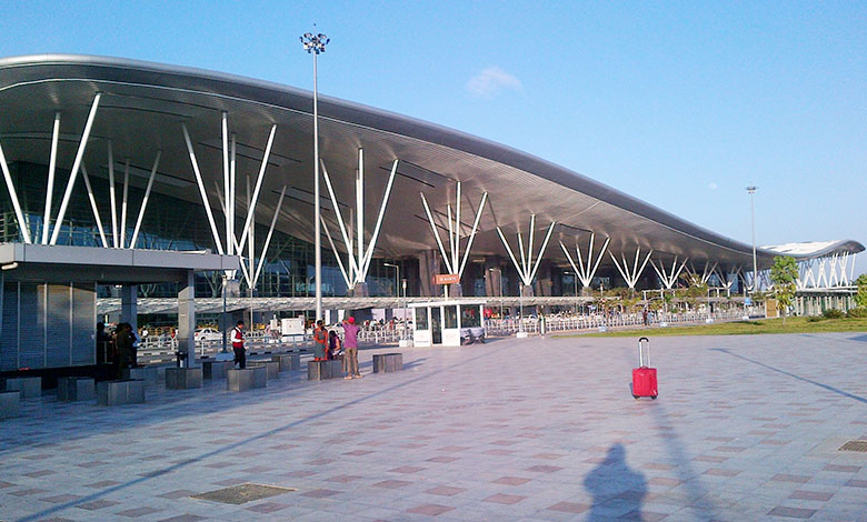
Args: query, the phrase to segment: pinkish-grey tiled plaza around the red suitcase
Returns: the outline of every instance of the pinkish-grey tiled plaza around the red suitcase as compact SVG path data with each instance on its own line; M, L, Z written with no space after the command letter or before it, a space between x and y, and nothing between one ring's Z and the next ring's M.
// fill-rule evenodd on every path
M24 401L0 421L0 520L867 521L867 334L403 349L406 371L146 404ZM388 350L393 351L395 349ZM289 488L242 504L191 495Z

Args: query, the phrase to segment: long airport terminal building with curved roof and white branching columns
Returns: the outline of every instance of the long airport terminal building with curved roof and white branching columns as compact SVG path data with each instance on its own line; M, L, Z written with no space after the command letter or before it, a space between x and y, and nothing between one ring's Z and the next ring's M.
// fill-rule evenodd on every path
M0 243L44 263L28 269L24 249L3 258L4 332L21 319L10 303L28 300L46 318L49 301L71 307L70 324L137 299L215 300L223 287L272 310L311 309L311 92L42 54L0 60ZM864 250L853 240L759 248L756 278L751 245L544 159L349 101L320 97L318 110L327 307L395 305L386 298L401 280L408 297L542 299L671 289L692 273L743 292L780 253L799 261L801 289L833 289L851 284ZM437 274L458 283L447 290ZM82 283L91 293L77 297ZM77 315L88 299L106 304Z

